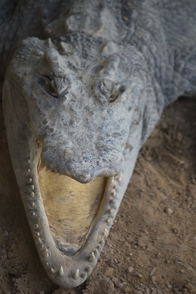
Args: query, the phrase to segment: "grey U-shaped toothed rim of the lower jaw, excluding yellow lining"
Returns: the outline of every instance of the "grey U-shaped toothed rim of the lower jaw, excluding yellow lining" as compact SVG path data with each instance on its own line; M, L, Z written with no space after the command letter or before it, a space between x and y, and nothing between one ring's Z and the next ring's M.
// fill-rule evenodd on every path
M50 279L64 288L73 288L86 280L98 262L99 255L123 198L122 193L118 191L120 181L118 178L108 178L105 199L102 199L104 202L101 211L98 212L96 222L93 222L92 227L89 229L86 240L79 252L68 256L59 250L51 235L39 187L35 161L38 147L34 141L35 146L37 151L32 148L31 155L26 160L26 183L23 189L20 189L20 191L23 190L21 191L21 196L26 216L41 262Z

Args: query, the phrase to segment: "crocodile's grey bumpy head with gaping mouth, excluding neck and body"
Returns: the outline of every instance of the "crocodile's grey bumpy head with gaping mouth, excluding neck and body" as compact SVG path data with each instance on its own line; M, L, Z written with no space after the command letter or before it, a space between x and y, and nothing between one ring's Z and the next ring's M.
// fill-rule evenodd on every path
M97 263L135 165L145 100L142 54L81 39L86 50L26 39L3 88L30 228L49 277L65 288Z

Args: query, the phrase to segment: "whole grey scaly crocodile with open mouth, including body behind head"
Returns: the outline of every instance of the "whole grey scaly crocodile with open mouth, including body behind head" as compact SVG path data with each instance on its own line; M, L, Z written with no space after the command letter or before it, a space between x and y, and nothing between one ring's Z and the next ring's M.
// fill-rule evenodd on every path
M45 270L73 288L95 268L164 107L196 96L196 1L1 2L13 169Z

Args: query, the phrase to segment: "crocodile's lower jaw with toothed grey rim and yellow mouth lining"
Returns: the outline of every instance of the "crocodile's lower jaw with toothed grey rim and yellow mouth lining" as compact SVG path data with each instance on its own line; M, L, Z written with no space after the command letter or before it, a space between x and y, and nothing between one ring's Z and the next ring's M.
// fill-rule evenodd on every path
M73 288L86 280L98 262L123 197L121 175L79 183L49 172L40 158L42 143L32 141L32 145L25 186L17 174L26 215L50 279Z

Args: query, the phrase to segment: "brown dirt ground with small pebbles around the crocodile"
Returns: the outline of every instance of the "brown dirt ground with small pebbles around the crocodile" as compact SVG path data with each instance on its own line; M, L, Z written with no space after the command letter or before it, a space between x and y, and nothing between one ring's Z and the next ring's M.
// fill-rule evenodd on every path
M73 290L39 260L0 112L0 294L196 294L196 101L169 106L139 153L98 265Z

